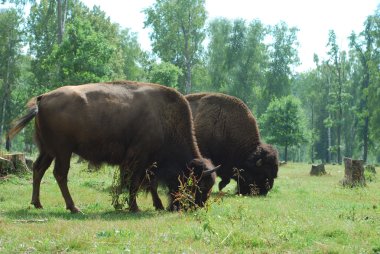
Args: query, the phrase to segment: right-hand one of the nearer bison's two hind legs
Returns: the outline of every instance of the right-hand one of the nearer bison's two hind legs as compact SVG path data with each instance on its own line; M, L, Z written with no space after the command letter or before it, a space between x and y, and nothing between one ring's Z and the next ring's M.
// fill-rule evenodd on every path
M71 198L70 191L67 186L67 174L70 168L70 157L70 154L65 156L57 156L55 159L53 173L55 179L58 182L62 196L65 199L66 209L70 210L71 213L77 213L80 210L74 205L74 201Z

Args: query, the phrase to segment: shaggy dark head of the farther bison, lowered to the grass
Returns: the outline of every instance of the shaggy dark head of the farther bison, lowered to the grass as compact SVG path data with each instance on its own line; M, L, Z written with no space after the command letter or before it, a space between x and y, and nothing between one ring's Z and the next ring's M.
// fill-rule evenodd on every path
M238 192L242 195L265 196L273 188L277 172L277 150L271 145L260 144L243 165Z

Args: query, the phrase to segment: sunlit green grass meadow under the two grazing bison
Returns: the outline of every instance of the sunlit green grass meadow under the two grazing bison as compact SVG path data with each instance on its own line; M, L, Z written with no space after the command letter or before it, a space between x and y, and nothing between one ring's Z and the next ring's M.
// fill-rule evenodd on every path
M215 190L207 209L157 212L141 193L142 212L115 211L113 168L75 164L69 188L84 214L70 214L52 170L41 185L43 210L29 204L31 175L0 180L0 253L380 253L380 183L343 188L343 166L309 176L311 165L282 166L265 198ZM379 172L379 168L377 168ZM164 203L166 192L159 192Z

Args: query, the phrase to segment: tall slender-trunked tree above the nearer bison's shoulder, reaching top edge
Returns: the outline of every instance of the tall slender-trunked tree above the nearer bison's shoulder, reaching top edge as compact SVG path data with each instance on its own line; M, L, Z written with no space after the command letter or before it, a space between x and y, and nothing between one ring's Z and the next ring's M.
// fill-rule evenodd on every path
M185 86L180 89L189 93L192 68L199 60L205 38L205 1L157 0L145 14L145 27L153 29L153 52L182 70Z

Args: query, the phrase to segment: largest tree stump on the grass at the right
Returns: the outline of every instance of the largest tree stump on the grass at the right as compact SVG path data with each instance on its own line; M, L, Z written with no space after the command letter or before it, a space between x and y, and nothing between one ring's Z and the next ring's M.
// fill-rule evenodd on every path
M365 186L364 161L344 158L344 175L343 186Z

